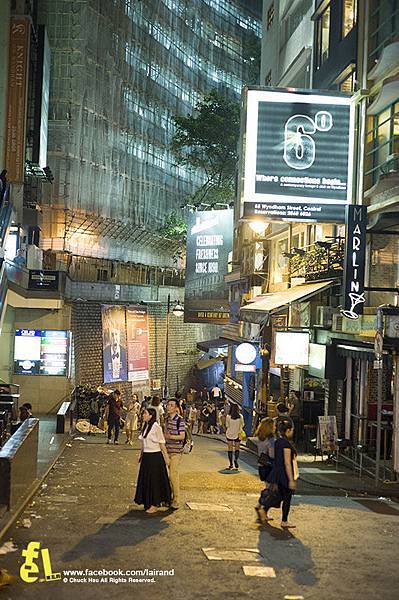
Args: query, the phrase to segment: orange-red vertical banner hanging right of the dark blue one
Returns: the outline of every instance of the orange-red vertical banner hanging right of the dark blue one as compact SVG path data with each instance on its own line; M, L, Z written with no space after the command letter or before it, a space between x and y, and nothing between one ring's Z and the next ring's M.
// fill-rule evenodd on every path
M142 383L149 379L148 312L146 306L126 309L128 379Z

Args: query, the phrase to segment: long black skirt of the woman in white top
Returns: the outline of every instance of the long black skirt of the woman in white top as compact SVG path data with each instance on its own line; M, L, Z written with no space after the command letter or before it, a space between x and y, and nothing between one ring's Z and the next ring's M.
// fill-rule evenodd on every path
M144 504L144 510L171 503L172 491L162 452L143 452L134 501Z

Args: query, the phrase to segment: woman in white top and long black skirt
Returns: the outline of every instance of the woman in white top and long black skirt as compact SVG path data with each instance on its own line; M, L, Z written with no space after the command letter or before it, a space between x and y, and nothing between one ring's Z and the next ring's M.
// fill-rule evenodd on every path
M156 416L154 408L147 408L143 412L144 425L139 436L142 444L140 470L134 497L136 504L144 504L144 510L148 514L156 513L161 504L170 505L172 501L166 469L169 466L169 456Z

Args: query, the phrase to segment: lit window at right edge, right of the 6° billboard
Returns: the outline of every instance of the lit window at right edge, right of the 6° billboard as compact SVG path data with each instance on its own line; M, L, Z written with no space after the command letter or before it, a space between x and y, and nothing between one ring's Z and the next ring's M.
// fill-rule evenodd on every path
M394 157L393 155L396 155ZM370 119L366 147L366 187L377 183L387 162L399 155L399 102Z

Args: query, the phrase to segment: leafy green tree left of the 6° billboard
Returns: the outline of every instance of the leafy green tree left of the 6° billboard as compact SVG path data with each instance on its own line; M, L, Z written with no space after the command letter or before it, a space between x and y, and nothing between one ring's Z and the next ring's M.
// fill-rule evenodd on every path
M175 117L171 149L179 165L204 173L204 184L186 203L229 203L234 200L240 105L211 92L186 117Z

